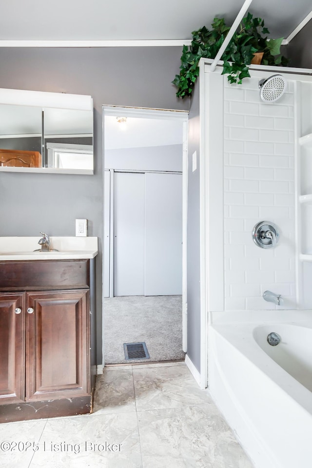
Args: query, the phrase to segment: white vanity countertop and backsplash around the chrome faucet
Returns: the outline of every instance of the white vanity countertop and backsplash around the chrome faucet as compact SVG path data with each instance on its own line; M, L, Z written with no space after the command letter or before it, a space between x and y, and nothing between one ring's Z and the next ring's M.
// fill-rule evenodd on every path
M1 260L77 260L98 254L98 237L51 236L51 247L58 252L34 252L40 249L38 237L0 237Z

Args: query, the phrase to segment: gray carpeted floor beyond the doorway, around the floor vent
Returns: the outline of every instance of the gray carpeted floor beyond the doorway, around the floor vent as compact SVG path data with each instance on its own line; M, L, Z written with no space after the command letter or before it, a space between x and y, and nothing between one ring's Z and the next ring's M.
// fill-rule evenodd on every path
M150 359L126 361L123 343L145 341ZM121 364L184 359L182 296L104 299L104 361Z

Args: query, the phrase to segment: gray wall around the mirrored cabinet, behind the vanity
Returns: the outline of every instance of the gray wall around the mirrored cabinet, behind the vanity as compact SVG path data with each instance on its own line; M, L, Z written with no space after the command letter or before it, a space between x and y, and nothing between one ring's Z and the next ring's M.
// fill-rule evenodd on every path
M94 176L0 173L0 236L75 235L89 219L98 236L98 364L102 362L102 118L101 106L187 110L171 84L180 47L0 48L0 87L91 95L94 99Z

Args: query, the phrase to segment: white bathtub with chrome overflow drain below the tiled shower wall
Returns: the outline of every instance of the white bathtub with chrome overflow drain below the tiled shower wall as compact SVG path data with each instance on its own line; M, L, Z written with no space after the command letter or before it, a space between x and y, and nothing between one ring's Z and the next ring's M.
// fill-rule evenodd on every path
M211 312L208 333L209 391L254 466L311 468L312 311Z

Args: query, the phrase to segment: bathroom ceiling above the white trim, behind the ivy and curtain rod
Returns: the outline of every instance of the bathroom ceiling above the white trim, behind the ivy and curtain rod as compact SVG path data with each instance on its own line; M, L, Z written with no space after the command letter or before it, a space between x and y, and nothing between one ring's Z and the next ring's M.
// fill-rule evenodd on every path
M243 0L1 0L0 40L191 39L215 16L231 25ZM272 37L287 38L311 0L253 0Z

